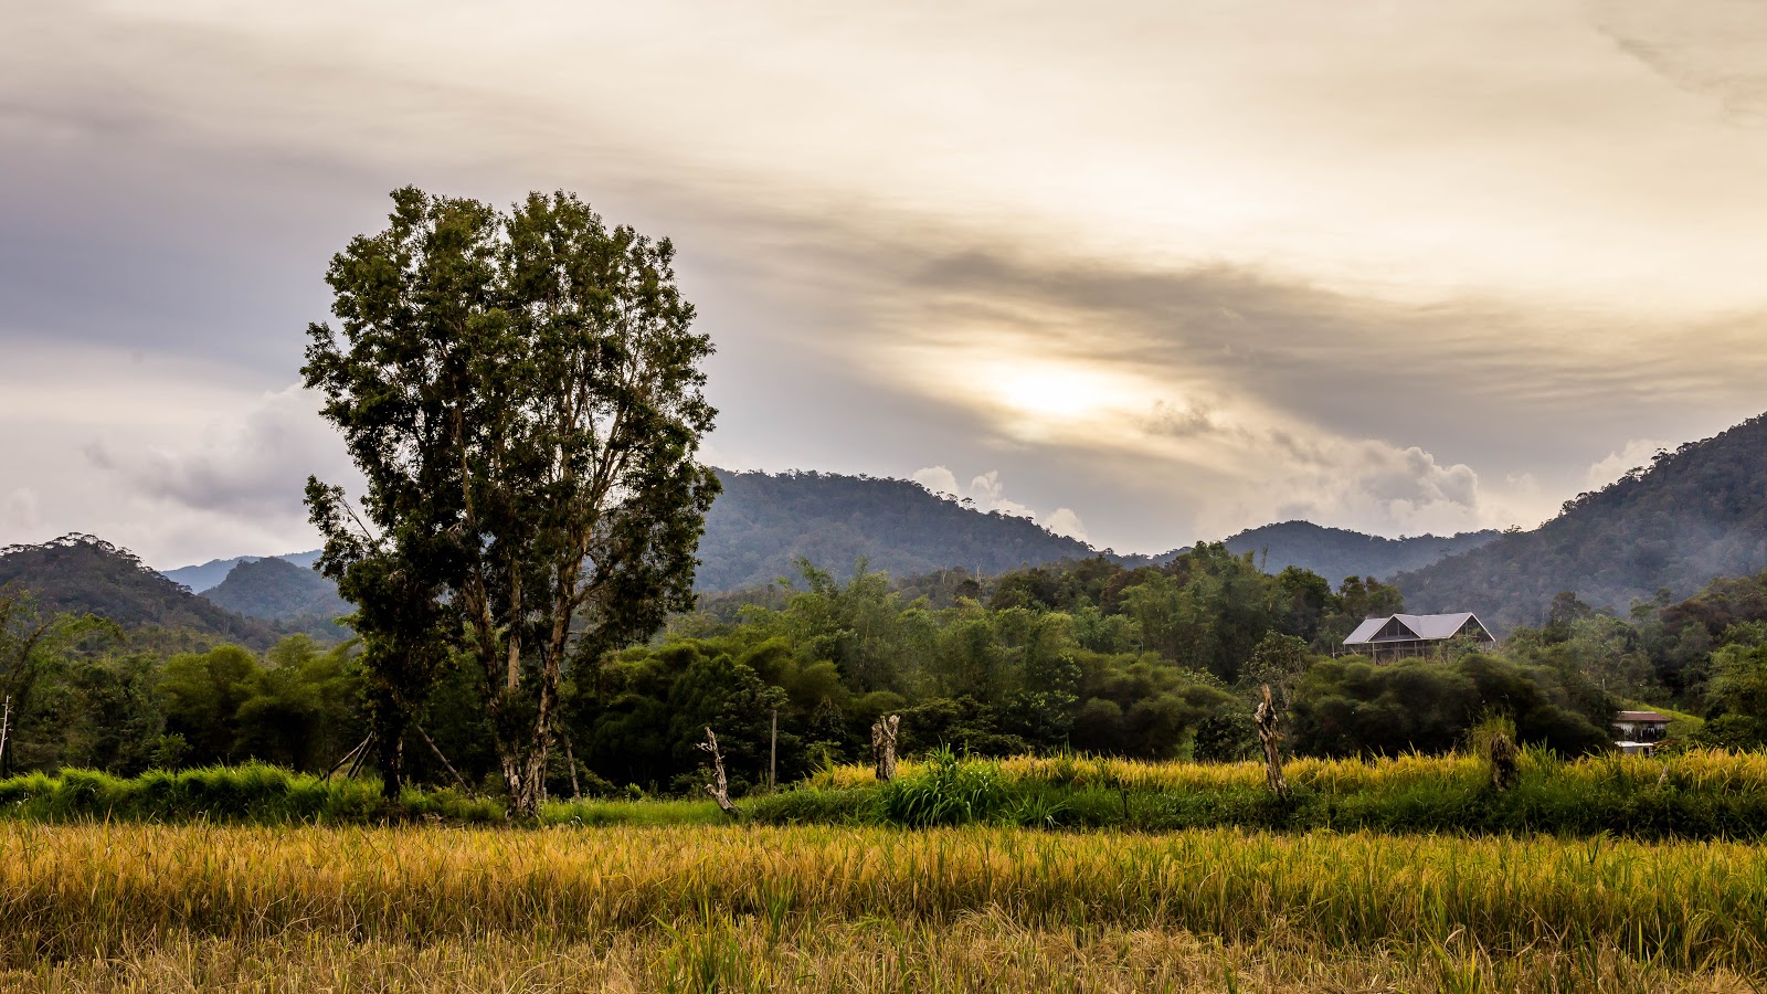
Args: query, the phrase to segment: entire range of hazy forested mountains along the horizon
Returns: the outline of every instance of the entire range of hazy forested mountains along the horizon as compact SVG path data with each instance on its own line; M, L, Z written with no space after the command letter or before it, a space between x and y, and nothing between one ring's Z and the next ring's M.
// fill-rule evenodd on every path
M1000 575L1101 555L1030 518L982 513L906 479L726 470L719 479L724 492L700 543L701 593L765 587L795 575L800 557L836 577L866 561L908 578L947 568ZM1560 591L1613 608L1663 589L1682 598L1712 577L1767 568L1767 416L1659 453L1650 467L1567 501L1527 532L1389 539L1283 522L1239 532L1226 547L1251 552L1272 573L1301 566L1332 584L1391 580L1414 612L1474 610L1500 630L1539 624ZM1152 564L1179 552L1103 555ZM124 626L263 644L290 630L336 631L332 621L350 610L309 570L316 555L242 555L161 577L95 536L64 536L0 550L0 584L28 585L46 607L92 610Z

